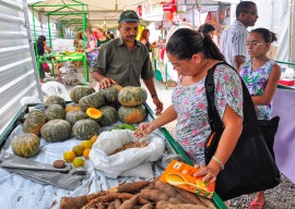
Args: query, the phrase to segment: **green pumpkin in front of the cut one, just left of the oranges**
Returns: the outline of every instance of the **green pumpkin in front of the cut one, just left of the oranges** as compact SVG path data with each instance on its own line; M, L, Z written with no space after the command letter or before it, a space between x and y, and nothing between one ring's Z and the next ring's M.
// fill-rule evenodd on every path
M92 136L99 134L99 125L91 119L83 119L74 123L72 132L76 138L87 140Z

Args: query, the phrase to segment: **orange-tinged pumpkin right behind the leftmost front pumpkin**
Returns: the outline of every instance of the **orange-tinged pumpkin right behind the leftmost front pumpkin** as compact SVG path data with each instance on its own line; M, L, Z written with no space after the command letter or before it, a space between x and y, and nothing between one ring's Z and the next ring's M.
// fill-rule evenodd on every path
M40 134L42 126L46 123L46 115L37 109L28 112L24 124L23 124L23 132L31 133L35 135Z

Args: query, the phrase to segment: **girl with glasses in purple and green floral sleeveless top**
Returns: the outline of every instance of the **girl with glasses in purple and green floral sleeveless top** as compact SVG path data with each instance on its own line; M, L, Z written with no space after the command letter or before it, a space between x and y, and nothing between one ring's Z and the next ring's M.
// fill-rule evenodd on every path
M281 77L281 67L267 57L273 41L276 41L275 34L269 29L256 28L251 30L246 44L250 60L239 69L240 76L256 106L259 120L271 119L271 100ZM259 192L249 209L262 209L264 202L264 192Z

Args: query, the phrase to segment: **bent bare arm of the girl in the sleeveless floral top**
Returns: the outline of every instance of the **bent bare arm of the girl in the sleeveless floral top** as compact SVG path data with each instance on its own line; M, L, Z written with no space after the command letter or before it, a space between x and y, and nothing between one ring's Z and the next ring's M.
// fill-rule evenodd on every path
M268 106L271 102L273 95L276 90L280 77L281 66L274 63L263 95L251 97L255 106Z

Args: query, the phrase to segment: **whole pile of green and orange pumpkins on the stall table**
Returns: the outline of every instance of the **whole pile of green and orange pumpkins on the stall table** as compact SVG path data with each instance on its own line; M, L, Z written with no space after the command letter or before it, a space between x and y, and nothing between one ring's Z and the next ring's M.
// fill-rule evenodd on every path
M33 109L26 114L23 135L12 143L15 155L30 158L40 149L39 135L48 143L62 142L72 135L88 140L99 134L101 126L109 126L118 119L128 124L142 122L146 116L143 103L148 94L141 87L113 85L95 91L94 88L78 86L70 93L73 103L66 106L59 96L49 96L43 112Z

